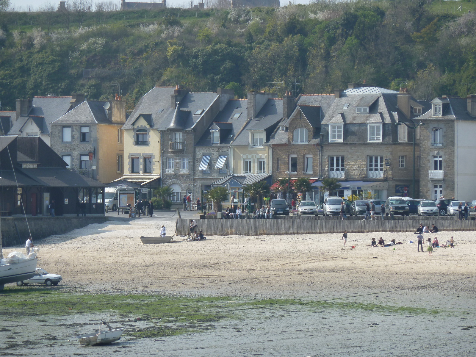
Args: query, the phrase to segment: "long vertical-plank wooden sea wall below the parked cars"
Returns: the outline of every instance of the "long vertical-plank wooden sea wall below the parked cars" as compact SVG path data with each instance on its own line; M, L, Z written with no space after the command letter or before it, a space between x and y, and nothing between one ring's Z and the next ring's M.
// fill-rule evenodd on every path
M476 221L458 221L455 219L421 218L426 225L434 223L440 231L474 231ZM416 219L197 219L197 232L202 230L205 236L264 236L313 233L349 233L370 232L414 232L419 222ZM178 218L176 233L188 234L190 220Z

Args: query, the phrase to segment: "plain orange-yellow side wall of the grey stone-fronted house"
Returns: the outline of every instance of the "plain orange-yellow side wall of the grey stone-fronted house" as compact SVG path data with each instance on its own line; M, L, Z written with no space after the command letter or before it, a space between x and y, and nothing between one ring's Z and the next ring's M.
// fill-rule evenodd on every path
M117 172L117 156L124 155L124 143L118 142L120 125L98 124L98 181L109 183L122 176Z

